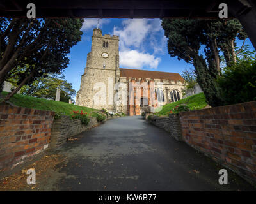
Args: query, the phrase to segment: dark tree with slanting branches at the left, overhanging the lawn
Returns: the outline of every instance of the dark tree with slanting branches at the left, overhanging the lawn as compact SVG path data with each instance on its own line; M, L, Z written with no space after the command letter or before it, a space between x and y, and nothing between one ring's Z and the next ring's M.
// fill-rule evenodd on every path
M82 19L0 18L0 22L0 84L13 75L19 78L4 101L36 78L67 68L67 54L83 34Z

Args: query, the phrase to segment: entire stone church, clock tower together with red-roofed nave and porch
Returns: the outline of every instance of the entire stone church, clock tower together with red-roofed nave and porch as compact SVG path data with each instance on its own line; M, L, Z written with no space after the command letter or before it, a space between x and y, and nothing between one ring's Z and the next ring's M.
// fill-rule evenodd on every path
M119 36L93 29L76 105L140 115L146 106L179 101L184 87L179 73L119 68Z

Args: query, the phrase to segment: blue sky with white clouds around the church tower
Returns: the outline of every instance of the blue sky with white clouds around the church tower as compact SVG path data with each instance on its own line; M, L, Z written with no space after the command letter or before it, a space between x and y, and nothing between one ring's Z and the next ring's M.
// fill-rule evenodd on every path
M85 19L82 27L82 40L71 48L68 58L70 64L65 69L65 80L73 88L80 88L81 75L86 67L86 56L91 51L92 31L97 27L98 19ZM167 38L159 19L100 19L102 34L115 34L120 38L120 68L143 69L182 73L184 69L193 68L177 57L170 57L167 50ZM241 41L237 45L241 45ZM246 40L246 44L250 40Z

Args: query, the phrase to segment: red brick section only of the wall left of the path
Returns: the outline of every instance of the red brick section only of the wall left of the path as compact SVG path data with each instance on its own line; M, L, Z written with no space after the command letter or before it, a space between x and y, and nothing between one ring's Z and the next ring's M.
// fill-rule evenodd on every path
M47 149L54 112L0 105L0 171Z

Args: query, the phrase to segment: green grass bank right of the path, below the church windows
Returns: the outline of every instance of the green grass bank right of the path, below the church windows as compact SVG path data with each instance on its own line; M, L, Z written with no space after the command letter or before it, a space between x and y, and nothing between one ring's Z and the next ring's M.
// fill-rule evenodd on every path
M207 103L205 102L205 96L204 93L196 94L193 96L189 96L188 98L181 99L180 101L174 102L174 103L168 103L164 105L162 110L157 113L157 115L168 115L170 113L170 110L175 108L175 106L180 105L182 103L185 103L190 110L199 110L207 106Z

